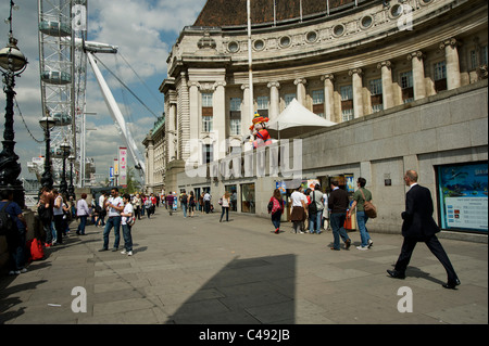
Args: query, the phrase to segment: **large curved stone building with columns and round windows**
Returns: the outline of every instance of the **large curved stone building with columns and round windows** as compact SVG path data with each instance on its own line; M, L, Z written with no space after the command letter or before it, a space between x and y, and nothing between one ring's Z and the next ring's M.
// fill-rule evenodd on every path
M452 156L439 164L487 162L487 124L468 125L487 121L486 0L251 0L251 47L246 3L208 0L193 25L183 28L167 57L167 78L160 88L166 115L164 176L171 181L166 191L206 185L217 195L234 183L239 196L243 181L210 179L209 169L201 181L186 179L185 164L198 167L239 152L254 111L273 120L293 99L338 124L315 134L311 144L302 137L304 179L349 171L367 177L378 195L391 193L384 182L397 180L393 175L402 178L410 167L422 170L422 154ZM476 115L460 108L465 101L455 99L462 94L474 95L471 106L481 105ZM430 106L436 111L428 112ZM415 112L414 119L406 112ZM419 116L424 112L432 118ZM455 125L455 118L463 126ZM447 130L460 140L440 134L449 124L459 128ZM435 132L419 137L424 126ZM411 133L410 127L417 130ZM385 138L389 141L380 141ZM447 146L446 141L457 144ZM317 144L325 142L327 148ZM373 142L377 144L372 146ZM430 146L422 149L425 142ZM353 152L356 144L372 151L362 151L359 157ZM311 153L316 158L308 158ZM388 163L396 157L400 164ZM383 165L388 171L378 170ZM435 172L421 175L435 190ZM266 209L262 200L267 201L279 178L262 188L253 178L256 214ZM392 215L386 216L385 226L377 220L379 229L399 225L402 181L398 188L402 193L394 198L401 201L394 207L386 202Z

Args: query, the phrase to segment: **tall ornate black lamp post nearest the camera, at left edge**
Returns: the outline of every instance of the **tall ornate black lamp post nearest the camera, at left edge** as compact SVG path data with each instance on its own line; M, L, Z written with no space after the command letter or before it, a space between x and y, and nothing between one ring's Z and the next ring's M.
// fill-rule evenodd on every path
M14 191L14 202L22 208L25 207L24 188L18 179L22 168L17 163L18 156L14 152L14 129L13 129L13 100L15 97L15 77L20 76L27 66L27 59L17 48L17 40L12 36L12 8L10 5L10 33L9 43L0 50L0 69L3 77L3 91L7 94L5 105L5 127L3 130L3 150L0 153L0 190L9 189Z

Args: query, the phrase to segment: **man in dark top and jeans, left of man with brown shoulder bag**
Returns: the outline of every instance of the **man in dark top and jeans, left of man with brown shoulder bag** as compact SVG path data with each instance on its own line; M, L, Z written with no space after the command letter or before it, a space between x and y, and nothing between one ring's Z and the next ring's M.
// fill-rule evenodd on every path
M350 205L348 192L339 188L339 182L336 179L331 179L330 187L333 191L329 194L328 208L330 209L329 218L334 239L330 249L340 249L340 236L344 242L344 248L349 249L351 240L343 227L348 207Z

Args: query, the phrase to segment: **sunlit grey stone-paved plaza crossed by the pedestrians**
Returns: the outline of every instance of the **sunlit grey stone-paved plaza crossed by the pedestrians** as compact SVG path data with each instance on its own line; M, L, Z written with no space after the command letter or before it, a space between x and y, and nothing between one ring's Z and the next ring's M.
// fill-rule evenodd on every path
M360 234L350 232L350 249L333 252L330 231L292 234L283 223L277 235L268 219L218 218L158 208L134 227L131 257L99 252L102 230L89 226L26 273L0 278L0 323L488 323L487 244L441 239L462 282L452 291L424 244L405 280L387 275L401 235L371 234L372 249L359 251ZM412 312L398 310L409 307L402 286ZM72 310L82 297L74 287L86 291L86 312Z

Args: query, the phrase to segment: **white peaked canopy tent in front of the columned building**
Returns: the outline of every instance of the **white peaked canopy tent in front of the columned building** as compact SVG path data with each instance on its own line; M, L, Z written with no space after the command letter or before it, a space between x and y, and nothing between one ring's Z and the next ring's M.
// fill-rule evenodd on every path
M321 127L334 126L336 123L326 120L312 113L299 103L296 99L290 102L287 108L278 117L269 121L266 126L271 137L291 138L303 134Z

